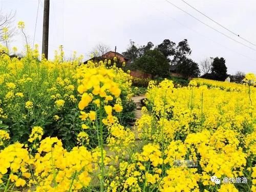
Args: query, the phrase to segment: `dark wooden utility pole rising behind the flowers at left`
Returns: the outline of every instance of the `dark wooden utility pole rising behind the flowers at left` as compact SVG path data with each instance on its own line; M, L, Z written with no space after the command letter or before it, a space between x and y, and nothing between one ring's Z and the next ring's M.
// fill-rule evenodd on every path
M50 10L50 0L45 0L44 20L42 22L42 54L45 54L46 59L48 59L49 10Z

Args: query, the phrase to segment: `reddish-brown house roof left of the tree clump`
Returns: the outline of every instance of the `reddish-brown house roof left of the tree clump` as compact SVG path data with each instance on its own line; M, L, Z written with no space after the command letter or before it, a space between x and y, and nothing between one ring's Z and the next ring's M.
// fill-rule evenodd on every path
M99 56L99 57L93 57L89 60L93 61L93 62L99 62L99 61L104 61L105 59L113 59L114 57L116 57L118 59L118 61L120 63L127 63L127 62L130 62L130 59L123 56L122 54L118 53L118 52L114 52L114 51L109 51L105 54L103 54L102 56ZM86 64L89 60L87 61L84 61L83 63Z

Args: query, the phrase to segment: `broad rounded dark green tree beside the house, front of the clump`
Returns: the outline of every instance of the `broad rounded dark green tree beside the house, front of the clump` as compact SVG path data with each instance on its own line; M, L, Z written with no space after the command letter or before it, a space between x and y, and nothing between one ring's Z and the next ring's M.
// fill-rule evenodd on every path
M166 57L158 50L148 50L144 55L139 57L135 66L137 69L150 73L152 76L166 76L168 72L168 61Z

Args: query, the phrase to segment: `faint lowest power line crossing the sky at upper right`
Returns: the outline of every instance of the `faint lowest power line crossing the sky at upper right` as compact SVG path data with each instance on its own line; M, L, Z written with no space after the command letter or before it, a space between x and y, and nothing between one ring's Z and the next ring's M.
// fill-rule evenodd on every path
M146 2L147 4L150 4L150 3L148 3L147 1L145 1L145 2ZM166 15L167 17L169 17L169 18L175 20L175 21L176 21L178 24L180 24L181 26L183 26L183 27L185 27L185 28L187 28L187 29L189 29L189 30L191 30L191 31L194 31L195 33L197 33L197 34L199 34L200 36L202 36L202 37L204 37L204 38L206 38L206 39L208 39L208 40L214 42L215 44L217 44L217 45L219 45L219 46L221 46L221 47L226 48L226 49L229 50L230 52L234 52L234 53L239 54L239 55L241 55L241 56L243 56L243 57L245 57L245 58L248 58L248 59L250 59L250 60L256 61L256 59L254 59L254 58L248 57L248 56L246 56L246 55L244 55L244 54L242 54L242 53L240 53L240 52L237 52L237 51L234 51L234 50L232 50L232 49L229 49L228 47L226 47L226 46L220 44L219 42L217 42L217 41L215 41L215 40L212 40L211 38L209 38L209 37L207 37L207 36L205 36L205 35L199 33L197 30L195 30L195 29L193 29L193 28L190 28L190 27L187 27L187 26L184 25L183 23L179 22L179 20L177 20L177 19L175 19L175 18L169 16L169 15L166 14L165 12L163 12L163 11L157 9L156 6L152 6L152 7L153 7L154 9L156 9L157 11L163 13L163 14Z

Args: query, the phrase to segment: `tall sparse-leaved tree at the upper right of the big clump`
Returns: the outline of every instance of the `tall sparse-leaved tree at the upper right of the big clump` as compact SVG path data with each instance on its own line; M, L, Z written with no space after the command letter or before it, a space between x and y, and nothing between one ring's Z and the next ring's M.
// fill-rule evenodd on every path
M176 64L182 63L188 55L191 54L191 49L187 43L187 39L179 42L175 50L175 56L173 62Z

